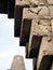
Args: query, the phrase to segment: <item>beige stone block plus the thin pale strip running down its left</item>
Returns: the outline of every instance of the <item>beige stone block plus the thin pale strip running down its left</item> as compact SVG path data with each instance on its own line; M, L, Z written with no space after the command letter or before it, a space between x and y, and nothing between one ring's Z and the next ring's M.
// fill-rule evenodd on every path
M30 29L29 44L28 44L28 56L30 52L31 39L35 36L43 36L47 37L47 40L51 40L52 27L51 20L49 19L40 19L38 25L38 20L34 19Z

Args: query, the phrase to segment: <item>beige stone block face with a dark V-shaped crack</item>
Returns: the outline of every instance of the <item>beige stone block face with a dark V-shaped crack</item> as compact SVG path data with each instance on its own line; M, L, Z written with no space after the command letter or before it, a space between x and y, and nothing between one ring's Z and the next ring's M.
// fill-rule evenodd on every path
M52 6L52 5L51 5ZM38 18L53 18L53 9L51 6L47 8L44 6L37 6L37 8L24 8L23 10L23 18L31 18L31 19L38 19ZM53 8L53 6L52 6Z

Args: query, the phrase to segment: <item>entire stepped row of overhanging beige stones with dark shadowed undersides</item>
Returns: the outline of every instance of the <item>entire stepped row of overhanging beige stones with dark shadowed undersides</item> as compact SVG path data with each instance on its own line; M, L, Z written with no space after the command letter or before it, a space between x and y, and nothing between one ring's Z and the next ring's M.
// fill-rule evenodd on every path
M53 70L53 0L8 0L6 13L34 70Z

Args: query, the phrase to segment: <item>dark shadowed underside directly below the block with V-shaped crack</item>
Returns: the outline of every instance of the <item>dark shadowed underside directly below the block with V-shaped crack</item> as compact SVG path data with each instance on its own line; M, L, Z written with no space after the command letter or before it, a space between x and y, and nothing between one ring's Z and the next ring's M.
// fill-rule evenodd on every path
M30 27L31 27L31 19L24 19L23 20L23 26L22 26L22 36L19 39L19 45L21 46L26 46L26 42L29 40L29 34L30 34Z

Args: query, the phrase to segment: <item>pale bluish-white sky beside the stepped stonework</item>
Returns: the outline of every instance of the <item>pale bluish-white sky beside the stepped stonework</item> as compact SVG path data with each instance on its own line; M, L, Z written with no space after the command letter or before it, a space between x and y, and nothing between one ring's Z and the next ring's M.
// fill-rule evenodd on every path
M15 55L22 55L26 70L32 70L32 60L25 59L25 46L19 46L19 38L14 38L14 19L0 14L0 70L10 69Z

